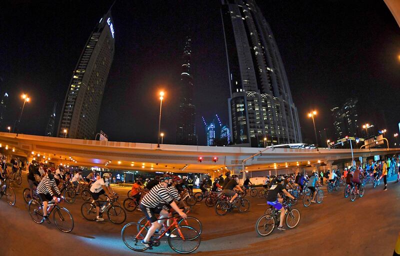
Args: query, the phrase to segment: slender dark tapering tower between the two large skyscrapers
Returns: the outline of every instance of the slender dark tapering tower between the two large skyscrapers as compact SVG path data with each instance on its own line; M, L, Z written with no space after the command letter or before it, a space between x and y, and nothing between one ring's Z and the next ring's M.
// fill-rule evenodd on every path
M193 76L191 75L191 38L186 36L183 50L183 64L180 73L180 104L176 127L176 144L197 145L195 128L196 107L192 104Z

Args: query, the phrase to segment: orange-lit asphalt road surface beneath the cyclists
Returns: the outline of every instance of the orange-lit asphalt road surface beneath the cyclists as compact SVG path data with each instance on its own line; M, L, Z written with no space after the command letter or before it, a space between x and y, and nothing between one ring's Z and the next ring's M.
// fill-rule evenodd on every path
M115 225L106 217L104 222L88 222L80 214L81 200L63 204L74 219L74 229L69 234L60 232L53 223L35 224L29 217L22 190L25 179L16 193L16 204L8 206L0 200L0 255L1 256L131 256L173 255L166 241L154 250L137 253L129 250L120 238L127 222L137 221L140 212L127 213L124 224ZM191 216L203 225L201 244L193 255L296 255L296 256L391 256L398 236L400 184L383 184L373 189L366 186L364 197L350 202L343 197L343 188L327 193L322 204L304 208L297 203L301 213L298 226L286 231L274 230L268 237L255 233L255 222L265 208L265 200L247 197L250 210L217 216L213 208L204 203L196 205ZM126 189L118 189L123 200Z

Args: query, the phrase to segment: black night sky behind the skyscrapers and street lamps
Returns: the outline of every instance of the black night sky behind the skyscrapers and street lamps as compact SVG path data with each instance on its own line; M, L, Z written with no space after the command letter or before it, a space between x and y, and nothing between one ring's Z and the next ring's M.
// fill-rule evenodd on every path
M40 2L40 3L38 3ZM360 124L383 110L388 134L400 121L400 28L382 0L258 0L274 33L297 107L303 140L332 128L329 109L359 99ZM9 104L3 127L13 125L28 93L20 131L44 135L54 102L58 118L72 71L95 24L112 4L96 1L1 1L0 91ZM115 55L98 130L112 141L156 143L158 91L166 92L161 131L175 143L183 40L192 36L192 74L199 144L201 116L228 123L228 74L220 1L117 0L112 7ZM332 131L331 131L332 132Z

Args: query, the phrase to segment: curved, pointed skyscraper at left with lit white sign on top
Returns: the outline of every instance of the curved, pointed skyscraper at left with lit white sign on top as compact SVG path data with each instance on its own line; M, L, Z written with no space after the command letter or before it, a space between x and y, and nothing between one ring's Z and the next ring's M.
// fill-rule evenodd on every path
M105 82L114 56L110 10L90 34L72 72L58 125L58 137L93 139Z

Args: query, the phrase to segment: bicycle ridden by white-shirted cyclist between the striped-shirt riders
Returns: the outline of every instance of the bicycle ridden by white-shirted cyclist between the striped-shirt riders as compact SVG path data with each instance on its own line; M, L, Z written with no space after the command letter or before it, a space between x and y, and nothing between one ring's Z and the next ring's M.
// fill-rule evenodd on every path
M118 204L118 195L113 193L114 198L112 200L98 201L102 203L100 207L99 216L102 217L104 212L107 212L108 220L113 224L121 224L126 220L126 213ZM85 202L80 207L80 213L83 218L88 221L94 221L96 219L96 204L92 202Z

